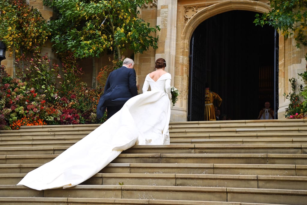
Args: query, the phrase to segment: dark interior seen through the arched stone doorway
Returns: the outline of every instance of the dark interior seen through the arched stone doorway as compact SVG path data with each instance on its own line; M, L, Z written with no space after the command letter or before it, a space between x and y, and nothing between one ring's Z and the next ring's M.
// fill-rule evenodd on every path
M204 120L204 103L196 101L202 98L205 82L223 99L221 114L232 120L257 119L266 101L274 108L274 28L256 26L255 14L229 11L195 29L190 44L188 121Z

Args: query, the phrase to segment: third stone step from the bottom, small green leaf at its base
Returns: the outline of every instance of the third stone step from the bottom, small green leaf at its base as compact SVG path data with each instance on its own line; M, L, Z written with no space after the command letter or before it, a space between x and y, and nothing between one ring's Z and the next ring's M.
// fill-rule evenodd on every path
M0 174L0 185L16 185L26 174ZM97 173L81 185L146 185L307 190L307 176Z

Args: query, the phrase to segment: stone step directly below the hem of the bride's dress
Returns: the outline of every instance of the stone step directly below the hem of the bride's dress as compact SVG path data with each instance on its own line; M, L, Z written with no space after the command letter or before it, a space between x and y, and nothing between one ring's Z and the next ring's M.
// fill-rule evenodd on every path
M70 146L0 147L0 155L60 154ZM67 145L67 142L63 143ZM35 144L34 144L35 145ZM122 153L271 153L306 154L307 144L134 145Z

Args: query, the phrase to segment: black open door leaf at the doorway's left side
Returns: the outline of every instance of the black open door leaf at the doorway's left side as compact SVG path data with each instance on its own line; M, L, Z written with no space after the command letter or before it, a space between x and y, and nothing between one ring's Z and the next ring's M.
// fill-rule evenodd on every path
M188 121L203 121L205 112L205 58L202 33L194 32L190 43Z

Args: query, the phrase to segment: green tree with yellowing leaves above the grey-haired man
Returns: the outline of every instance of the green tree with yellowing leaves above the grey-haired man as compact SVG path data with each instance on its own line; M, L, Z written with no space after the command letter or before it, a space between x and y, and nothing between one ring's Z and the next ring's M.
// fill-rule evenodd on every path
M138 18L144 2L148 1L44 1L58 14L49 22L55 52L62 58L68 50L83 58L111 51L120 60L122 49L140 53L150 47L156 49L158 38L151 34L160 28Z

